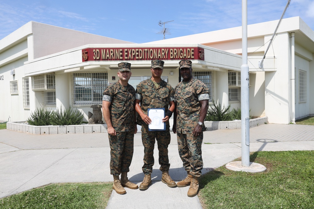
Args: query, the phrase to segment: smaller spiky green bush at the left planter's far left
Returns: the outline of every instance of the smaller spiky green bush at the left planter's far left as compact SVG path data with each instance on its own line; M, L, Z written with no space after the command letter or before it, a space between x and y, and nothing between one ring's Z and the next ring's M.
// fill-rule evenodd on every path
M33 126L48 126L50 123L51 109L36 109L35 112L30 113L30 118L27 119L28 124Z

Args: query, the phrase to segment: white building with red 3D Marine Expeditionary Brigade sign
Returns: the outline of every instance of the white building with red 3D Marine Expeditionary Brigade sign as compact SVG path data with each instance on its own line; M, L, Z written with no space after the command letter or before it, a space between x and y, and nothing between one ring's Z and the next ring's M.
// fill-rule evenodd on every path
M283 19L260 69L277 24L248 25L250 115L287 124L314 114L314 32L299 17ZM240 108L241 32L236 27L132 44L30 22L0 40L0 120L22 121L39 107L69 106L87 120L90 105L100 104L103 89L116 81L119 62L131 63L136 86L151 76L151 59L165 61L163 79L173 87L178 62L192 60L193 76L209 87L210 99Z

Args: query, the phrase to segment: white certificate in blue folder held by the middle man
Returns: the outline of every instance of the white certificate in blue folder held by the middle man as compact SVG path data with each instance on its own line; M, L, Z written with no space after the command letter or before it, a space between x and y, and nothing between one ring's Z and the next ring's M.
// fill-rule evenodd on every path
M166 130L166 124L162 122L165 118L165 108L148 108L148 117L152 120L148 125L149 131Z

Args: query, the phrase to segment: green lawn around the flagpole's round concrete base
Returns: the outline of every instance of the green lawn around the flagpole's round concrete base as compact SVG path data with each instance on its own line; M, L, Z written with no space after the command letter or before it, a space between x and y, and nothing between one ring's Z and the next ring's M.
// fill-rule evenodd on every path
M250 162L267 170L246 173L222 166L203 175L203 208L314 208L314 151L256 152Z

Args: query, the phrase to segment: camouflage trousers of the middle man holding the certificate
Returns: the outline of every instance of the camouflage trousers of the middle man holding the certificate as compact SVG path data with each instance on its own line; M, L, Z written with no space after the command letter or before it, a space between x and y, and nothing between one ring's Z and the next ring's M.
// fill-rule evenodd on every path
M144 146L144 165L142 167L143 173L150 174L153 172L154 165L154 147L155 139L157 140L157 147L159 151L159 165L161 171L168 171L170 164L168 158L168 145L170 144L170 129L165 131L149 131L148 125L142 125L142 142Z

